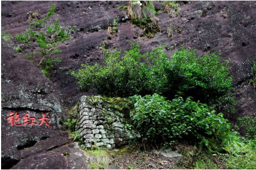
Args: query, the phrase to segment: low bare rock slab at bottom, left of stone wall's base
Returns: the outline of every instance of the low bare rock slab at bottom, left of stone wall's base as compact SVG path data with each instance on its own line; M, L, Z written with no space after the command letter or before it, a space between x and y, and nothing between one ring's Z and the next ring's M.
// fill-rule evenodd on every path
M88 169L86 156L78 143L66 144L66 142L63 141L63 145L58 148L48 148L46 153L38 152L23 158L11 169ZM35 148L29 150L34 151Z

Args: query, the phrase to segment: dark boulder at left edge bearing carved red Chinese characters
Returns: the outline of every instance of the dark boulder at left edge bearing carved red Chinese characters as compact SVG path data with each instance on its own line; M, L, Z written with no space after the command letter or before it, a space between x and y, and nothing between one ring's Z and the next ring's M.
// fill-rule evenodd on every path
M67 160L63 153L81 151L75 144L71 145L65 128L60 125L66 112L54 84L4 40L1 56L2 168L71 168L74 162L71 158ZM73 159L77 157L73 155ZM85 168L85 162L80 162L81 165L74 167Z

